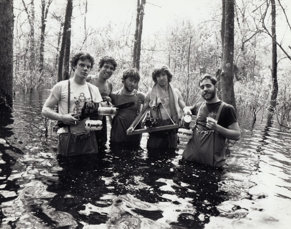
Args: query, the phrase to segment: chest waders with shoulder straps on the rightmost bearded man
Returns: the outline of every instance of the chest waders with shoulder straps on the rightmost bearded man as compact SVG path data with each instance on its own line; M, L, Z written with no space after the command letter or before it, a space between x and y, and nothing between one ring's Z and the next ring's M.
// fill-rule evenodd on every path
M200 131L197 127L200 118L200 109L205 103L202 103L197 113L197 119L193 127L193 138L187 143L183 152L183 157L190 161L204 163L215 167L222 167L225 163L225 150L227 139L216 131ZM215 120L218 121L223 106L228 104L222 102L218 108Z

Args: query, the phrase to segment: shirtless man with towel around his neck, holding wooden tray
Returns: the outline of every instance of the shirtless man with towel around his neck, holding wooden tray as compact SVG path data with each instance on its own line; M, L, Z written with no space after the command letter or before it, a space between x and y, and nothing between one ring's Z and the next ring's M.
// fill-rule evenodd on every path
M157 120L157 126L178 124L182 127L180 108L186 107L180 91L171 85L172 73L167 65L156 65L152 71L152 80L155 84L145 95L145 104L141 113L134 119L127 132L133 131L136 123L150 107L152 118ZM148 148L177 148L178 135L175 129L149 133Z

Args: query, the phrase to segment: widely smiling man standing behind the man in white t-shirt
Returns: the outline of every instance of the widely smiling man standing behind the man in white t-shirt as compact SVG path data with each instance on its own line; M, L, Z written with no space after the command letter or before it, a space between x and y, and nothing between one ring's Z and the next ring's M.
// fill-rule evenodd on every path
M111 102L109 97L112 91L112 83L109 80L111 75L116 69L117 63L113 57L104 56L99 60L99 72L97 75L89 75L86 79L87 82L98 87L99 92L103 98L103 101ZM107 124L106 116L102 118L102 129L100 131L95 131L96 140L98 146L102 147L107 142Z

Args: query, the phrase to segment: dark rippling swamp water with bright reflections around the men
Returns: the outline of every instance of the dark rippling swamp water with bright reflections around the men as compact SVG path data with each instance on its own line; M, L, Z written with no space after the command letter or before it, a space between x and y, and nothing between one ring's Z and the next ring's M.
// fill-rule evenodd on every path
M14 109L44 128L48 96L15 96ZM291 133L265 115L241 118L227 165L182 161L176 152L107 145L96 163L61 167L56 133L1 111L0 228L288 228Z

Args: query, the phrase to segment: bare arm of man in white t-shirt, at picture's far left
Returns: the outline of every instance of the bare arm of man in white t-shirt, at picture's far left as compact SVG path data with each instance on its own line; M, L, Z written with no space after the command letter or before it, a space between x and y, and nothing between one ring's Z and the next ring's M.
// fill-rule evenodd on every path
M43 105L41 112L42 115L52 120L62 121L67 125L75 125L76 124L75 122L79 121L79 119L76 119L72 116L74 113L61 115L53 111L54 105L56 105L57 102L58 100L51 93L49 95L49 98L47 98L47 101L45 101L45 105Z

